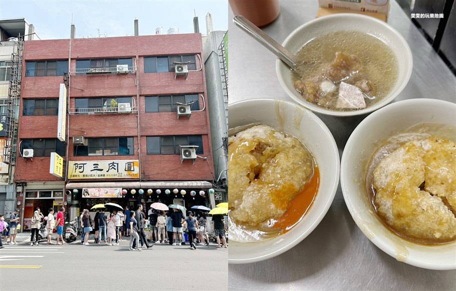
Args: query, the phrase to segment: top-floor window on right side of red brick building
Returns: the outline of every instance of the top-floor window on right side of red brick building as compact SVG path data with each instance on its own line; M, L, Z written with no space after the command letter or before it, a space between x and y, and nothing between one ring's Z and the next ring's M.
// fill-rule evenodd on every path
M187 62L189 70L196 70L196 58L194 54L170 55L170 56L147 56L144 57L144 72L174 72L174 62Z

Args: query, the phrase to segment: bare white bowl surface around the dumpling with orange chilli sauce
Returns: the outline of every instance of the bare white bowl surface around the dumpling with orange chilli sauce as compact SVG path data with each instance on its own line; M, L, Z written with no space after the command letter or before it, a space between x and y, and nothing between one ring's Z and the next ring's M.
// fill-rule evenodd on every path
M230 240L228 263L253 263L275 257L307 237L331 206L339 183L339 152L331 132L310 110L298 104L272 99L241 101L228 106L229 128L261 122L293 135L312 152L320 171L315 201L303 219L287 233L273 239L242 244Z

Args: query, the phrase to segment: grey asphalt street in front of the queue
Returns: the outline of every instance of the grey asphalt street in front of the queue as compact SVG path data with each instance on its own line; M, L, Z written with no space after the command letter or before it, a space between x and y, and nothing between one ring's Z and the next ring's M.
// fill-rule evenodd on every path
M0 290L228 290L228 249L187 243L129 251L128 239L107 246L92 244L91 235L88 246L30 246L30 234L18 234L17 245L0 250Z

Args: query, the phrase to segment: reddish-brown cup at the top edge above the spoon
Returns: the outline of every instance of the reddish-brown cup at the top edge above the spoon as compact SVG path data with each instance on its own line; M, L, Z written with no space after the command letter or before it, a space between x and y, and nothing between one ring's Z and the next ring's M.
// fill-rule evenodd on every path
M278 0L229 0L234 15L243 15L256 26L271 23L279 16Z

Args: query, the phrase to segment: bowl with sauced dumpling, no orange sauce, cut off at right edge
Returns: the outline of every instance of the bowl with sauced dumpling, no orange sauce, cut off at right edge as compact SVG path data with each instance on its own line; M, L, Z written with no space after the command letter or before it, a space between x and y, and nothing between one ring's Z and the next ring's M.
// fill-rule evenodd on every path
M399 262L456 269L456 104L394 102L349 137L340 183L359 229Z

